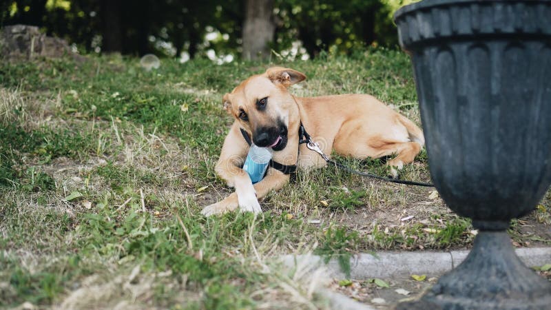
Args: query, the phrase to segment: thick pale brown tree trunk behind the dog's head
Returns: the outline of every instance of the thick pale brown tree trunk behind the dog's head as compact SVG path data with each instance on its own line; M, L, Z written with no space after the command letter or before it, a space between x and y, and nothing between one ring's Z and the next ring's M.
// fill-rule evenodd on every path
M274 32L273 0L247 0L242 59L267 59L270 56L268 43L273 40Z

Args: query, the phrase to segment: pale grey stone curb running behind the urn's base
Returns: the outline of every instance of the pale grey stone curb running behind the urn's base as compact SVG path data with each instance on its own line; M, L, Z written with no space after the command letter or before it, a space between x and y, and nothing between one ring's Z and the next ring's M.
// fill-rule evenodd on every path
M551 263L551 247L521 248L515 250L517 256L528 267ZM368 278L409 277L412 274L440 276L457 267L469 251L422 251L422 252L377 252L357 254L350 260L350 278L362 280ZM304 261L306 260L306 261ZM315 255L286 255L282 262L289 267L298 262L308 265L324 265L323 258ZM332 259L326 265L329 275L334 278L346 278L337 260Z

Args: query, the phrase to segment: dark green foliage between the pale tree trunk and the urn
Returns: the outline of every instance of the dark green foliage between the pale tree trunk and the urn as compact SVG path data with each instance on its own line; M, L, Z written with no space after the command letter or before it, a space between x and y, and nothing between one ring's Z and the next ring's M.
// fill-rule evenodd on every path
M388 7L379 0L278 0L282 31L280 47L289 48L299 39L311 57L322 50L351 54L366 45L397 44Z

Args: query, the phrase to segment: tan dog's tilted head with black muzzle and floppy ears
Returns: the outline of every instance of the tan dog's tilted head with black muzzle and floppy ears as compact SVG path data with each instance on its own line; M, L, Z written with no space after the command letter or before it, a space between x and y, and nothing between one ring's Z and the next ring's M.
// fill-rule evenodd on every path
M225 94L224 109L252 133L255 145L280 151L287 146L290 124L298 128L296 123L300 122L298 107L287 88L304 79L304 74L292 69L269 68Z

